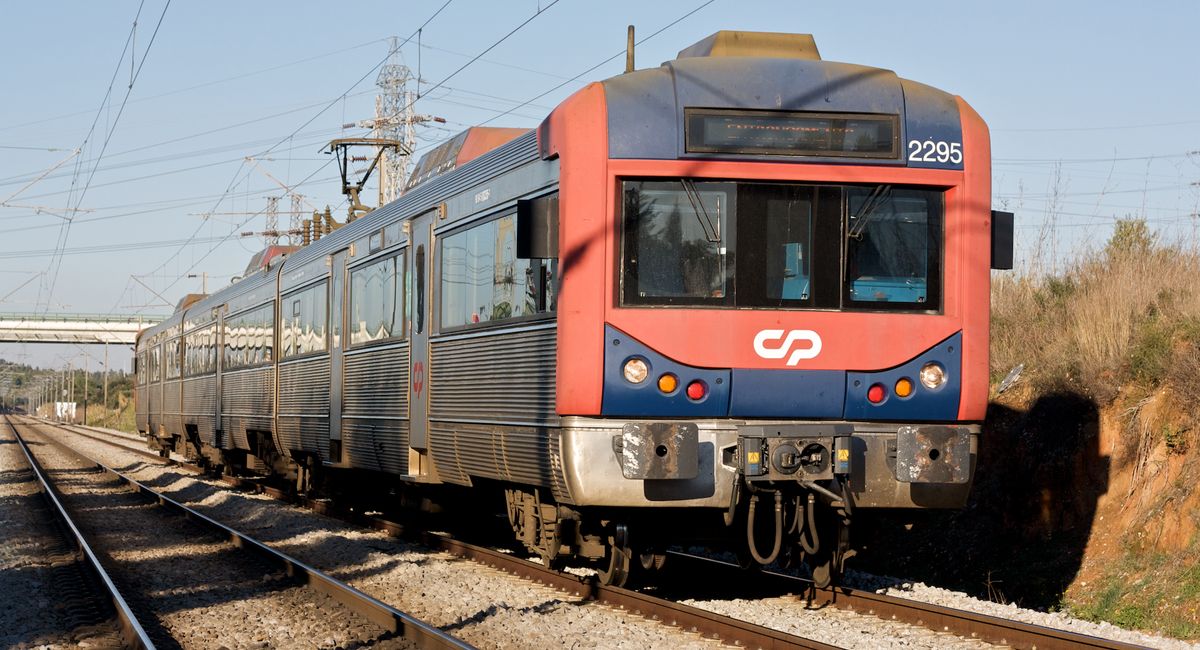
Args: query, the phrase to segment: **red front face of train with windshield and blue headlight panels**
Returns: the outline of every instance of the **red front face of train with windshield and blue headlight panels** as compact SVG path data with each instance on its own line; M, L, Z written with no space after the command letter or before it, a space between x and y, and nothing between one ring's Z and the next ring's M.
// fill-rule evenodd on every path
M559 413L982 420L990 152L986 127L959 104L961 171L610 160L602 86L564 103L542 130L544 151L560 158ZM864 242L888 219L888 246L920 259L881 277ZM650 366L648 390L624 395L632 357ZM930 363L954 395L923 410ZM664 374L677 384L660 385ZM898 393L901 379L911 396ZM692 408L694 381L704 408ZM890 407L859 408L876 384Z

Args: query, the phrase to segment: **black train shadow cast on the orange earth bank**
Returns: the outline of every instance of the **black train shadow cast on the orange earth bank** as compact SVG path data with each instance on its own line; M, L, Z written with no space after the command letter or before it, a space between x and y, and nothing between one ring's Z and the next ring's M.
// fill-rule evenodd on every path
M850 568L1055 608L1108 490L1110 461L1098 447L1099 409L1088 397L1051 393L1024 413L990 404L967 507L856 522L866 547Z

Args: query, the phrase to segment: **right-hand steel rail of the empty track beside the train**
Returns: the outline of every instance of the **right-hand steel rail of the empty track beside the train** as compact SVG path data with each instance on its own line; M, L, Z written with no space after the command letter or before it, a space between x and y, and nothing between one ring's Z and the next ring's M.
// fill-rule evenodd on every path
M209 528L215 532L228 537L234 546L246 550L257 552L263 558L281 565L288 576L292 576L301 580L306 586L310 586L319 592L323 592L332 597L334 600L346 606L348 609L355 612L362 618L378 625L385 631L397 633L402 637L412 639L419 648L422 649L438 648L438 649L457 649L457 650L466 650L474 648L473 645L467 644L461 639L457 639L454 636L443 632L442 630L438 630L437 627L420 619L416 619L415 616L406 614L396 609L395 607L391 607L390 604L386 604L372 596L368 596L367 594L364 594L362 591L359 591L358 589L341 580L337 580L328 576L326 573L324 573L318 568L308 566L305 562L301 562L300 560L296 560L295 558L286 553L276 550L259 542L258 540L250 537L248 535L245 535L230 526L222 524L221 522L217 522L216 519L212 519L211 517L208 517L196 510L190 508L184 504L172 499L170 496L167 496L166 494L156 492L154 488L143 485L136 479L126 476L120 471L116 471L109 468L108 465L104 465L103 463L100 463L92 458L86 457L82 452L72 449L68 445L62 444L59 440L54 439L48 439L48 440L56 447L68 453L72 453L79 457L80 459L92 463L104 473L114 476L115 479L134 488L139 493L151 496L152 499L157 500L160 505L167 507L168 510L179 512L188 517L190 519L193 519L203 524L205 528ZM124 445L118 445L118 446L124 447Z

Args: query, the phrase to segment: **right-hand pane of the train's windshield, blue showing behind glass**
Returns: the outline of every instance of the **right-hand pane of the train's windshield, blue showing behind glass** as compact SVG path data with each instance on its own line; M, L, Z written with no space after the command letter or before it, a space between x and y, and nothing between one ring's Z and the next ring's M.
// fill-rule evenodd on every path
M847 306L937 309L941 192L851 187L846 211Z

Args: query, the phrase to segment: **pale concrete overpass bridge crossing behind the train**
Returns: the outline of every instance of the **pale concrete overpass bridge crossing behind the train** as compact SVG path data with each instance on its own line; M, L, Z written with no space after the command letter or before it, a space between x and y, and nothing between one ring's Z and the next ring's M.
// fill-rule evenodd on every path
M124 343L132 345L162 317L0 313L0 343Z

